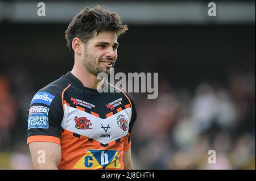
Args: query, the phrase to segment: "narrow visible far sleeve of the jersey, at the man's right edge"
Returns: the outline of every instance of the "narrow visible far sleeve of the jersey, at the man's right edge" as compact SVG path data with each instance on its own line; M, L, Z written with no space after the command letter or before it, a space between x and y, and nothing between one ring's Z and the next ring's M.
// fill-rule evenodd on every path
M137 112L136 112L136 108L135 108L135 103L134 103L134 99L130 94L127 94L127 96L129 97L130 101L131 101L131 121L129 123L129 131L125 137L125 144L124 144L124 148L123 151L127 151L130 149L131 146L131 131L133 130L133 126L134 123L137 119Z

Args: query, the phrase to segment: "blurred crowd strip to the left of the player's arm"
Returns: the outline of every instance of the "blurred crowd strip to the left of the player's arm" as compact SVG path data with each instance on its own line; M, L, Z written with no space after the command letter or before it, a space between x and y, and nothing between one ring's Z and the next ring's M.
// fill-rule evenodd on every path
M0 169L32 169L26 135L35 91L35 80L23 66L0 73Z

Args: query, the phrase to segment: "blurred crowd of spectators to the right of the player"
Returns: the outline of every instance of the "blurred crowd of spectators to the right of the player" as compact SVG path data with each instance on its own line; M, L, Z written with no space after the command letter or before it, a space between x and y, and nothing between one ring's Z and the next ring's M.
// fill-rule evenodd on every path
M160 82L159 97L137 100L132 137L138 169L255 169L255 74L237 73L228 86L195 91ZM216 163L208 162L216 153Z

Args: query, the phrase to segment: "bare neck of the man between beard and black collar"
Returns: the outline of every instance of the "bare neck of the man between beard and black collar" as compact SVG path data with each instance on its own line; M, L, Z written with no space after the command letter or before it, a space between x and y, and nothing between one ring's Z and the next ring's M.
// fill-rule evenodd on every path
M96 75L90 73L84 65L82 65L81 61L75 61L73 69L71 73L78 78L84 87L88 87L90 89L97 89L97 85L99 82L103 84L104 80L97 79ZM101 86L100 86L101 87ZM99 88L98 88L99 89Z

